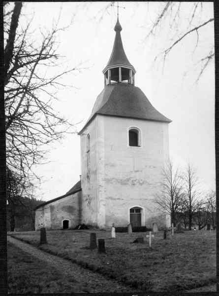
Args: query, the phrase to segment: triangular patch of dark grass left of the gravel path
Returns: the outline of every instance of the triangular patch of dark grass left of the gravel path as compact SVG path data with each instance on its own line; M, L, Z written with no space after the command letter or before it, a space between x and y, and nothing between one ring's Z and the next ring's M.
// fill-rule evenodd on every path
M8 293L82 292L80 283L8 243ZM43 268L42 268L43 265ZM73 288L72 288L73 287Z

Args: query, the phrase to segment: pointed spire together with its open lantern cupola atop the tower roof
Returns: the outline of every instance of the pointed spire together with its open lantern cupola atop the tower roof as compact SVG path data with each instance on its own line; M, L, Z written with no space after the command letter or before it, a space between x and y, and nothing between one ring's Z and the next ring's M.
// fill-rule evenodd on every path
M116 32L113 50L107 66L103 70L104 74L104 85L124 82L129 84L134 84L134 74L135 69L128 61L125 50L123 48L123 42L121 38L122 27L119 22L119 17L117 18L117 23L114 27Z

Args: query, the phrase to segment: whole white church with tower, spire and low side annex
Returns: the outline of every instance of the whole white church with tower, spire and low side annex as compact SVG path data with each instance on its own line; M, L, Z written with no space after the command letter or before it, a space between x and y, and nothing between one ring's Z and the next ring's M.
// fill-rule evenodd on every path
M169 227L170 217L155 203L161 171L169 158L170 119L135 86L117 19L104 88L82 130L80 181L64 195L35 209L35 230L75 228L78 224Z

